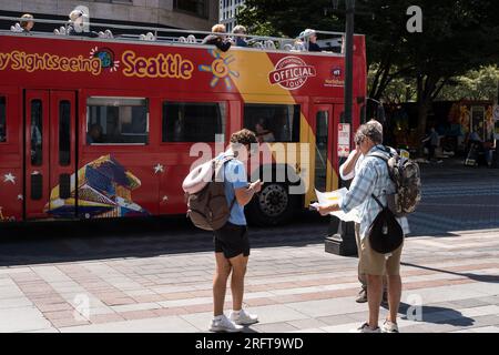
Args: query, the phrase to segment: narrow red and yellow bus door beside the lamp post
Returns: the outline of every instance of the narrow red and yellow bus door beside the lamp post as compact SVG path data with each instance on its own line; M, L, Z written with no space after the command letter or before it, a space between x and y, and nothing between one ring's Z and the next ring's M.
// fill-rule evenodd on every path
M338 186L337 175L337 126L343 105L316 104L313 109L315 120L315 189L332 191Z

